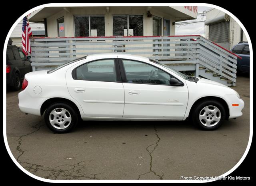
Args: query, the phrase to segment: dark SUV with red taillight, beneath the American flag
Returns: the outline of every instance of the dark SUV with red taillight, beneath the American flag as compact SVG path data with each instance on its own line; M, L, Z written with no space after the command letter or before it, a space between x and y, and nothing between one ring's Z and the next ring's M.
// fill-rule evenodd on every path
M29 58L20 47L8 45L6 51L6 85L14 91L21 88L24 75L32 71Z

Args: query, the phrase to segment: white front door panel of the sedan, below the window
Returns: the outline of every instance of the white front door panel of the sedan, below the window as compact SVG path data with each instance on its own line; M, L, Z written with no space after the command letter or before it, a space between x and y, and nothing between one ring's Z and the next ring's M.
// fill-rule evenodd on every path
M124 117L183 119L188 103L187 86L123 83ZM136 95L132 94L136 92Z

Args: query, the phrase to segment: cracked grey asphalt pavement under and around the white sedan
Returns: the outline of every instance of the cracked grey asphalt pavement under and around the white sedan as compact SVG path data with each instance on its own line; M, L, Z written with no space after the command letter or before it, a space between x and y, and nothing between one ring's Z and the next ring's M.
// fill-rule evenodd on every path
M18 92L7 91L7 139L26 170L48 179L180 179L220 176L240 160L249 139L249 77L234 88L245 102L243 115L216 131L188 122L83 121L56 134L44 118L18 108Z

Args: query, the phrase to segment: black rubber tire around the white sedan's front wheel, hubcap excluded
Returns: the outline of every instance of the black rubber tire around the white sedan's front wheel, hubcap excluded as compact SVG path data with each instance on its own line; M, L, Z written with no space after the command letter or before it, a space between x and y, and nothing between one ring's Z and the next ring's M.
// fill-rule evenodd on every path
M207 106L217 107L220 111L220 114L221 114L220 115L220 121L216 122L217 124L215 124L213 122L212 127L207 127L207 126L203 125L202 123L204 123L205 120L202 120L202 123L201 123L201 121L199 119L200 112L202 111L202 109L204 109ZM202 111L202 113L204 113L204 111ZM217 113L217 115L219 117L219 113ZM200 129L206 130L206 131L212 131L212 130L218 129L222 125L224 119L226 118L226 111L225 111L225 108L222 105L222 103L220 103L219 101L208 100L208 101L202 101L202 102L198 103L197 105L195 105L194 110L192 111L190 117L191 117L190 119L191 119L192 123L194 125L196 125L197 127L199 127Z

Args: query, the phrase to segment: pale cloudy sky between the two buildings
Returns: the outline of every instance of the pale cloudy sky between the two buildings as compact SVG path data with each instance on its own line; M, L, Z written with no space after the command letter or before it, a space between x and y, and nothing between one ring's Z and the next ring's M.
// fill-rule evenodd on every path
M175 28L175 35L202 35L205 36L205 28L204 22L192 23L192 24L185 24L186 22L197 22L197 21L204 21L205 16L202 13L205 10L209 10L210 7L207 6L198 6L198 15L197 19L195 20L187 20L182 22L176 22ZM183 24L180 24L183 23Z

